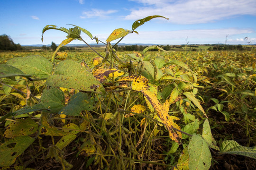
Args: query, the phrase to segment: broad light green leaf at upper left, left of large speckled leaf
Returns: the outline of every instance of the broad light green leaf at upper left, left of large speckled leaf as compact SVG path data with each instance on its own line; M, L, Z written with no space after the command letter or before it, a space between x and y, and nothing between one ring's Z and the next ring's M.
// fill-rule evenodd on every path
M7 64L38 78L50 76L53 67L51 62L42 56L17 57L7 61Z

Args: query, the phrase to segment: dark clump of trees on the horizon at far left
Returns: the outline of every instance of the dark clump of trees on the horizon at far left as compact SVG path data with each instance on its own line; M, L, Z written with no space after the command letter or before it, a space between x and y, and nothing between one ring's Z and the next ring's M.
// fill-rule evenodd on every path
M17 51L17 50L23 50L20 44L15 44L11 37L2 34L0 35L0 51Z

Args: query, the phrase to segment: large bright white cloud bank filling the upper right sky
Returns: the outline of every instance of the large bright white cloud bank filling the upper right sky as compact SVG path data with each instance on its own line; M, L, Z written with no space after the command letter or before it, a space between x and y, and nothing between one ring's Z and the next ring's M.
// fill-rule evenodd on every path
M199 24L236 17L256 15L256 0L133 0L145 7L132 9L126 19L151 15L168 17L177 24ZM147 7L146 5L153 5Z

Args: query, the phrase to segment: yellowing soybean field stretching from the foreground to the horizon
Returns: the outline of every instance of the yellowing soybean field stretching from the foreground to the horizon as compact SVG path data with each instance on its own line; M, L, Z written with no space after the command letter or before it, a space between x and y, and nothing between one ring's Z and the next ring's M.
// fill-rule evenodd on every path
M9 161L8 165L0 161L0 165L45 170L68 170L73 166L88 170L173 167L182 170L179 166L189 161L185 156L192 148L191 140L205 137L209 121L210 132L209 129L207 132L214 138L210 139L210 149L205 142L212 157L210 169L256 169L255 148L251 148L250 157L242 156L245 153L241 150L242 155L221 150L228 140L246 149L256 145L255 51L207 51L208 46L199 46L201 51L186 48L188 51L147 51L144 55L116 52L120 60L129 64L113 58L101 64L102 59L86 47L81 52L60 53L61 60L55 59L54 74L52 51L0 52L0 64L17 67L26 75L32 74L23 67L26 63L14 59L42 56L50 63L46 76L56 75L55 79L46 80L39 71L40 74L31 76L32 80L43 79L38 81L30 81L26 75L0 78L0 116L15 113L0 122L3 144L0 151L16 148L18 152L9 153L10 158L0 157ZM105 57L105 48L95 50ZM69 66L69 62L73 65ZM100 74L100 68L116 72ZM82 69L97 77L101 89L96 83L90 84L93 77L83 78ZM66 82L67 78L62 79L63 84L58 79L68 71L68 78L74 77L75 85ZM161 117L164 112L167 120ZM187 135L170 132L173 130L168 129L170 122L171 127ZM18 139L24 137L22 140L26 141L25 136L30 143L22 143L27 149L19 152Z

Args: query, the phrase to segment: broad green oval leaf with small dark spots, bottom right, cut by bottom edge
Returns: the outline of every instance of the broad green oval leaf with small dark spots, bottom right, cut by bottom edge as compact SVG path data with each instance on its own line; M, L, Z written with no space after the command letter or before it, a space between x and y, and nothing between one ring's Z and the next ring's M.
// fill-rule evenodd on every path
M190 170L209 170L211 165L211 153L205 140L193 134L189 145L189 169Z

